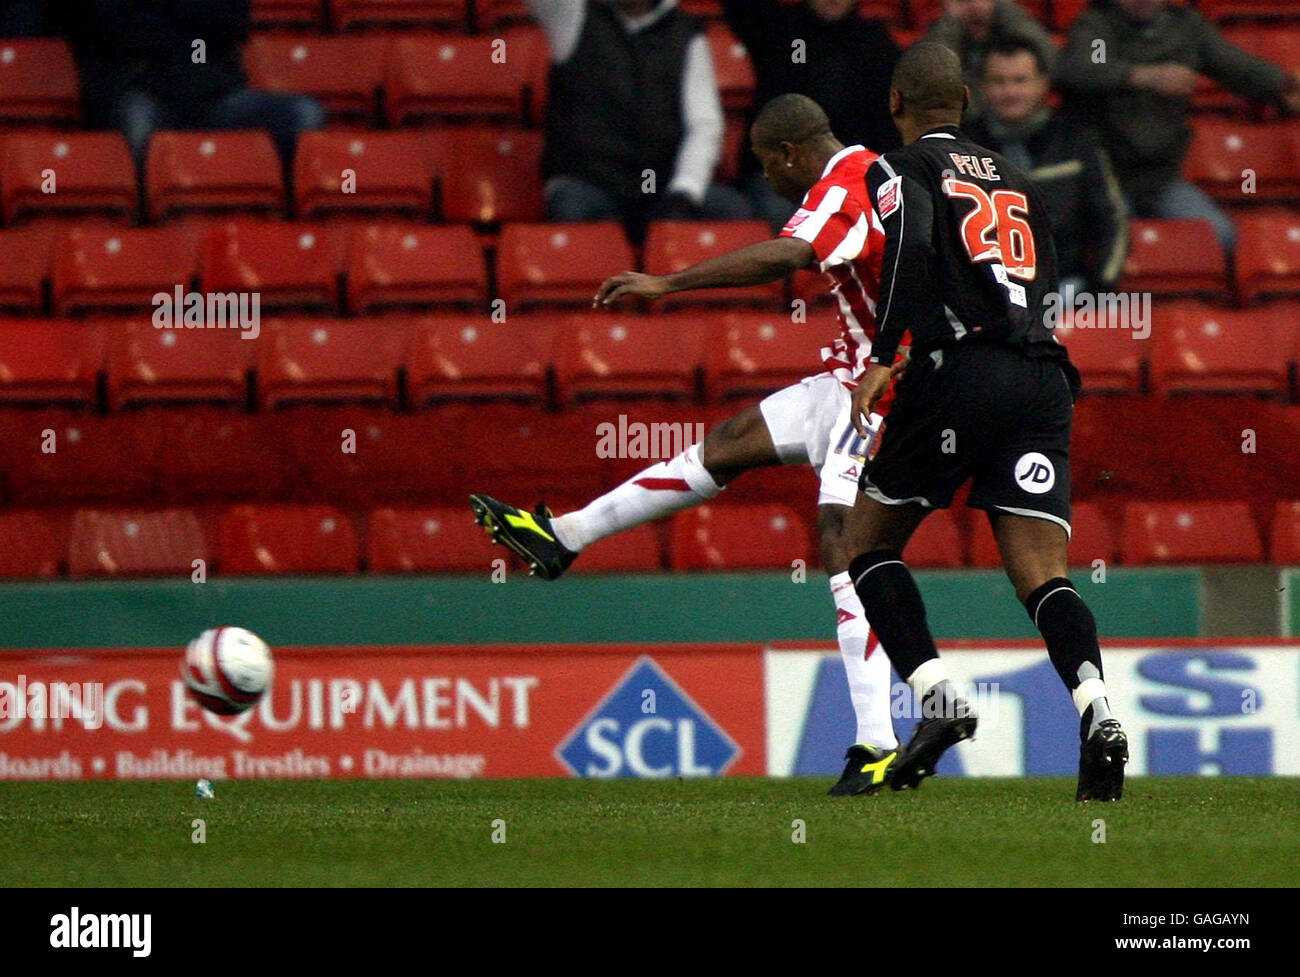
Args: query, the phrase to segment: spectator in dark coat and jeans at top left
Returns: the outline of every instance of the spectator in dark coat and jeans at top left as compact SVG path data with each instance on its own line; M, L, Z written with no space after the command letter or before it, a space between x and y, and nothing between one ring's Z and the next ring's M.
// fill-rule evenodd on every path
M240 45L250 0L49 6L77 57L87 122L120 129L142 169L159 129L265 129L287 168L298 134L325 125L315 99L248 87Z

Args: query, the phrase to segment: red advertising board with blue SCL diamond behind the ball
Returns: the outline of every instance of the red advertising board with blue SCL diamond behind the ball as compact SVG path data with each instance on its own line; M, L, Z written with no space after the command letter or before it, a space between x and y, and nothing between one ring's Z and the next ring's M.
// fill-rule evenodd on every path
M753 644L281 648L233 718L188 699L179 657L0 652L0 780L764 772Z

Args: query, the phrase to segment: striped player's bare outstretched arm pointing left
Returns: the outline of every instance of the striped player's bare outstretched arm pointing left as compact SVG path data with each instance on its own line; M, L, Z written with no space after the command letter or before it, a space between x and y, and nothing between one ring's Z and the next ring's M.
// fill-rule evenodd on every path
M815 264L812 246L798 238L774 238L759 244L719 255L684 268L670 275L647 275L637 272L606 278L595 292L593 305L610 305L619 299L636 296L660 299L672 292L696 288L733 288L766 285Z

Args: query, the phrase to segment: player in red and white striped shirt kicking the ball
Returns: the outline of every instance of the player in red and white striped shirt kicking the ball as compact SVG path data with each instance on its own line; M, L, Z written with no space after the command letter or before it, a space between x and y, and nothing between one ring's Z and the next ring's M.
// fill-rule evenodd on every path
M811 465L820 474L822 560L831 576L836 633L858 721L857 743L849 748L844 776L831 793L875 793L897 756L889 718L890 672L849 579L853 553L844 522L857 496L859 468L872 453L881 424L880 413L874 413L867 437L861 437L850 418L850 391L875 335L884 253L884 231L866 182L867 168L878 156L840 143L822 108L802 95L783 95L764 105L750 139L774 188L792 203L800 201L781 233L676 274L615 275L601 286L595 304L759 285L816 268L829 277L840 305L840 333L822 349L826 372L723 421L702 443L651 465L576 512L526 512L485 495L471 496L471 505L494 539L519 553L538 576L554 579L584 547L707 501L744 472Z

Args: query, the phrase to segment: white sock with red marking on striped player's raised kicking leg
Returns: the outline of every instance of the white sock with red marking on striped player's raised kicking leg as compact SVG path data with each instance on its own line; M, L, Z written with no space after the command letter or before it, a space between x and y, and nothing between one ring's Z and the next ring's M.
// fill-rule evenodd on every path
M551 527L560 546L576 553L615 533L708 501L720 491L722 486L701 461L699 444L692 444L676 457L638 472L584 508L556 516Z

